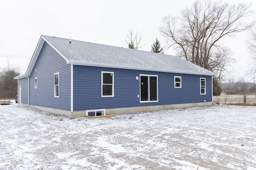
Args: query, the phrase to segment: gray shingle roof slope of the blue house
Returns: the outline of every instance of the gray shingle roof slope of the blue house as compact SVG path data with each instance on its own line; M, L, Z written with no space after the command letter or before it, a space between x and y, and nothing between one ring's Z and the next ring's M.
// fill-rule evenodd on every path
M72 43L69 43L69 39L50 37L46 35L42 35L42 37L66 58L67 63L187 74L215 75L213 72L177 56L77 40L71 40Z

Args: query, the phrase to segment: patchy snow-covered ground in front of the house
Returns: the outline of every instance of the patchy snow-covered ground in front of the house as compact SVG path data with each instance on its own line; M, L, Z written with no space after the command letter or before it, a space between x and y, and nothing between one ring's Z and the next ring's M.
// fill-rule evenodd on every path
M0 105L0 170L256 170L256 107L69 118Z

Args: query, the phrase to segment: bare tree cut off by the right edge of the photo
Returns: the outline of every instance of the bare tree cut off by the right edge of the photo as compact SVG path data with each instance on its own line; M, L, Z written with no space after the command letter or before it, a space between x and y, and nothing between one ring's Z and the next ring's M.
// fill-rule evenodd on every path
M246 46L250 53L250 63L249 63L249 70L248 74L255 76L256 74L256 27L253 27L250 30L250 36L248 40L246 40Z

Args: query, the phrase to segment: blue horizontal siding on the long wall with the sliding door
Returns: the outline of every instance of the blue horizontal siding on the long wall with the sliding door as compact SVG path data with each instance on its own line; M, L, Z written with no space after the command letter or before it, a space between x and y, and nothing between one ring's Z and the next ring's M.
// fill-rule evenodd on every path
M101 97L101 71L114 72L114 97ZM158 102L140 103L140 74L158 75ZM73 75L74 111L212 102L211 76L77 65ZM174 76L182 77L182 88L174 88ZM206 95L200 95L200 77Z

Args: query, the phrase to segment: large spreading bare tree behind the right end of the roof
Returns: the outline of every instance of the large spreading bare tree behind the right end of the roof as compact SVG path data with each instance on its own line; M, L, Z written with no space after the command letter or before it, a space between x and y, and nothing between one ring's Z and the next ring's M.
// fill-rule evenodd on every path
M222 72L229 72L235 60L220 40L252 27L254 23L243 22L252 14L250 6L197 0L180 17L166 16L160 33L167 37L167 48L174 47L179 57L215 72L221 79Z

